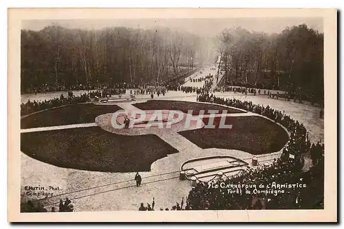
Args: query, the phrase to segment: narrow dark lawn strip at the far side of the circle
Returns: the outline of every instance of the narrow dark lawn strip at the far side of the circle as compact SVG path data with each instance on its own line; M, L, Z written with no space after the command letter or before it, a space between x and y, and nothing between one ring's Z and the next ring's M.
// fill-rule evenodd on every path
M144 103L133 104L141 110L181 110L187 113L188 110L193 110L193 115L199 115L200 110L205 110L204 115L208 114L208 110L227 110L227 113L244 113L244 111L235 108L226 108L215 104L200 104L190 101L172 101L172 100L149 100Z

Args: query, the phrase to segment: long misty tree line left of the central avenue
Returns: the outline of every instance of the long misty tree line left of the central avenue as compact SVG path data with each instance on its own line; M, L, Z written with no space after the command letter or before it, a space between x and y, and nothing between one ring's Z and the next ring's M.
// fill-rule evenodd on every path
M207 42L166 28L67 29L50 25L21 31L21 92L45 85L144 84L178 75L209 57Z

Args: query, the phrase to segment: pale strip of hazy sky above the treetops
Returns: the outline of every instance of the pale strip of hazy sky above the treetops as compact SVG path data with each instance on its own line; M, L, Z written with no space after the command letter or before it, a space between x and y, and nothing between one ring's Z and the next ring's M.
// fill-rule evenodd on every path
M197 36L217 36L228 27L242 27L252 32L279 33L286 27L305 24L318 32L323 32L321 18L228 18L228 19L75 19L75 20L30 20L23 21L23 29L40 30L47 25L58 24L65 28L103 29L105 27L131 27L140 29L169 29L190 32Z

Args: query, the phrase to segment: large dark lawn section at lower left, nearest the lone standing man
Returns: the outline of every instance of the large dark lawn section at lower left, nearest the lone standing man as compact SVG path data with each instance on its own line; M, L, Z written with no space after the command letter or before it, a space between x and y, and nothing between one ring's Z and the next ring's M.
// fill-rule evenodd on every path
M153 134L124 136L98 127L21 134L21 152L58 167L89 171L150 171L178 150Z

